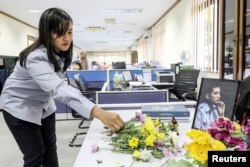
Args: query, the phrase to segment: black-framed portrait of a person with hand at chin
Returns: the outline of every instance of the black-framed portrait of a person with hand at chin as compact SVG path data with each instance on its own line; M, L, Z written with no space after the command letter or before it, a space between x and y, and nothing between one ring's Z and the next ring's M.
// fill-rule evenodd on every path
M234 120L240 81L202 78L192 128L207 131L219 116Z

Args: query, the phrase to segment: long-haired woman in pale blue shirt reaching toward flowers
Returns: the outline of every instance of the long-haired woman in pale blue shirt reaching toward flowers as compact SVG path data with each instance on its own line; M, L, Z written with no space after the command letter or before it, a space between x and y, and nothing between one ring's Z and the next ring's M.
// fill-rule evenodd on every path
M0 108L23 153L24 167L58 166L54 99L86 118L100 119L114 132L124 126L119 115L102 110L64 82L72 59L72 25L65 11L44 11L38 39L19 54L4 85Z

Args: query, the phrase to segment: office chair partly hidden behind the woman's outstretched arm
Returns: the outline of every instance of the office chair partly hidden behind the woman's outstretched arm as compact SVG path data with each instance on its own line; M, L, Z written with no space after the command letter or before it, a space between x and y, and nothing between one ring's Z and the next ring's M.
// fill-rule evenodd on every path
M86 98L88 98L90 101L94 102L95 103L95 100L93 98L91 98L91 95L94 95L95 97L95 92L93 91L88 91L87 89L87 84L86 84L86 81L85 79L80 75L80 74L75 74L74 75L74 80L72 79L69 79L68 78L68 82L70 85L72 85L73 87L76 87L78 88L81 93L83 94L83 96L85 96ZM78 128L79 129L85 129L85 130L88 130L89 126L86 126L84 125L84 122L86 121L85 118L83 118L80 114L78 114L75 110L71 109L71 114L74 118L77 118L77 119L81 119L81 122L78 124ZM69 146L70 147L81 147L81 144L75 144L75 141L77 139L78 136L80 135L85 135L87 134L87 131L84 131L84 132L77 132L72 140L70 141L69 143Z

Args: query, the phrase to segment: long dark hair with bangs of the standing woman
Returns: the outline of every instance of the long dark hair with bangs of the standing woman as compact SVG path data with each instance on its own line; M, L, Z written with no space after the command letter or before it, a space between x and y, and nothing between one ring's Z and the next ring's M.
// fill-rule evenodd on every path
M57 37L61 37L68 31L69 25L73 24L73 20L68 13L59 8L49 8L45 10L39 21L38 39L30 46L25 48L19 54L20 65L26 67L26 60L29 54L43 45L47 49L48 60L55 67L55 72L60 71L61 67L54 56L54 46L51 41L51 34L55 33ZM61 52L60 57L64 58L63 71L70 66L72 61L73 41L67 51Z

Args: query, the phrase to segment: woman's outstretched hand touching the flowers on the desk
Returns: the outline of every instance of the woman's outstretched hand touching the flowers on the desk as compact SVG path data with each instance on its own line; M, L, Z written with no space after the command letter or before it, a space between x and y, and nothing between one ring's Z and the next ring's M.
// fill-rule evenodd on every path
M101 120L112 132L117 132L124 127L124 122L118 114L104 111L97 106L92 109L91 116Z

